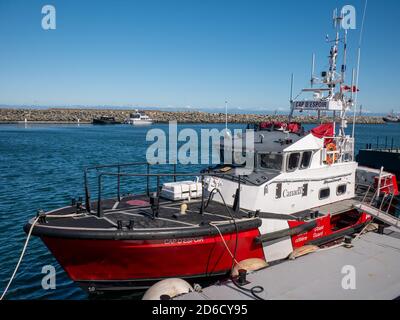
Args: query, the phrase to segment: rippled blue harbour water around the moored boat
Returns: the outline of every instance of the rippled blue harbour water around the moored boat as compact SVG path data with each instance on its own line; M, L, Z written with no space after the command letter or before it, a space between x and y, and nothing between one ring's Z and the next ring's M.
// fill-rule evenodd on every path
M222 129L223 125L182 125L182 128ZM230 126L243 128L242 125ZM22 230L38 209L45 211L68 205L72 197L83 196L85 166L145 160L150 144L145 141L152 127L92 125L0 125L0 291L17 263L26 235ZM310 128L310 126L308 126ZM356 149L376 144L376 136L395 137L400 126L359 125ZM390 138L388 140L391 142ZM380 143L384 144L381 139ZM200 168L198 166L197 168ZM179 171L188 171L182 166ZM92 185L92 187L94 187ZM143 184L124 181L125 192L138 191ZM111 193L112 189L107 189ZM56 289L44 290L42 267L56 268ZM87 299L87 294L69 280L43 243L33 237L8 299Z

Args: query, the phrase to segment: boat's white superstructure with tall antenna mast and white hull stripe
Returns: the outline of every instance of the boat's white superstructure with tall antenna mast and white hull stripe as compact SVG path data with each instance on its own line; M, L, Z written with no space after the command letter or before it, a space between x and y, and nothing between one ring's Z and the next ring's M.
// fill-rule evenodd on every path
M220 166L211 169L215 175L205 181L213 200L233 208L239 203L241 209L259 213L263 222L261 234L286 230L304 216L304 212L318 211L321 206L326 208L355 197L358 164L354 158L354 139L345 133L345 128L346 112L354 105L353 95L357 88L354 72L351 86L344 84L347 31L340 38L341 19L334 18L337 32L330 49L329 69L316 77L313 56L311 88L302 90L308 97L295 101L291 98L289 123L283 127L282 124L260 125L254 132L254 146L246 146L246 152L254 154L254 170L249 172L240 165L222 161ZM343 62L341 72L337 72L341 42ZM318 114L318 119L321 113L330 114L333 120L331 124L305 133L301 125L291 122L294 111L305 110ZM292 125L299 127L293 129ZM244 145L245 137L242 138L240 145ZM232 143L235 154L235 140ZM240 192L237 192L239 188ZM330 215L328 211L322 217L330 219ZM323 227L315 228L316 237L318 232L326 232L321 230ZM264 246L267 261L283 259L292 250L290 237Z

